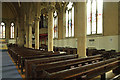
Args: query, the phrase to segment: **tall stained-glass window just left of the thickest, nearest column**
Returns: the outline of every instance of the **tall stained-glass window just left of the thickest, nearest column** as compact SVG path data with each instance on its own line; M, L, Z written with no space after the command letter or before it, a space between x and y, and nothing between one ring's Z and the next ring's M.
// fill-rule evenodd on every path
M69 2L66 10L66 37L74 36L74 7L73 3Z

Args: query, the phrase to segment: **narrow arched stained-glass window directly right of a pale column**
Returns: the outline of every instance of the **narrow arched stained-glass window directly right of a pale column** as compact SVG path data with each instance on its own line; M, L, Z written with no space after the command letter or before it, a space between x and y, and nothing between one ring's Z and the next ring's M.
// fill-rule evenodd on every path
M53 17L53 38L58 38L58 15L56 11Z

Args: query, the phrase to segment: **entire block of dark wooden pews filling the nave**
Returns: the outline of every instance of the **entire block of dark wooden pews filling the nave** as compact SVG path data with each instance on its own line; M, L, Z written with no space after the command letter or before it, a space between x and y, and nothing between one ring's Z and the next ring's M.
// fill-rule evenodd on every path
M34 50L25 47L17 49L17 47L10 44L8 52L21 70L20 74L25 75L23 79L26 80L115 80L120 78L117 76L120 54L114 50L96 50L98 54L78 58L77 54L67 52L61 54L60 51L48 52L44 48ZM19 51L21 49L22 52ZM26 55L25 52L29 53ZM21 56L20 60L19 56ZM112 79L116 76L117 78Z

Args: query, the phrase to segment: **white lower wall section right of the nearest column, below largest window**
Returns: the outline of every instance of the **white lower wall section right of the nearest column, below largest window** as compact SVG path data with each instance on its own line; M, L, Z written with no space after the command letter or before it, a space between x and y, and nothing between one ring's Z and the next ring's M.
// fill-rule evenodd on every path
M89 41L94 39L94 41ZM118 50L118 35L115 36L98 36L98 37L87 37L86 47L95 47L96 49Z

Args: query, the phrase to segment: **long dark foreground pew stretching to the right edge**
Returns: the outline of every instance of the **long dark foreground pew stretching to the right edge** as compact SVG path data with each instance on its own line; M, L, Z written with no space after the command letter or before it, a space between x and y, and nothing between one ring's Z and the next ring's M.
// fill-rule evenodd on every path
M43 70L41 74L37 74L37 78L49 78L54 80L69 80L76 78L83 78L85 80L108 72L120 66L120 57L103 60L94 64L88 64L81 67L75 67L72 69L48 69Z

